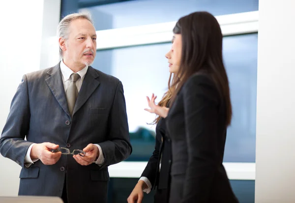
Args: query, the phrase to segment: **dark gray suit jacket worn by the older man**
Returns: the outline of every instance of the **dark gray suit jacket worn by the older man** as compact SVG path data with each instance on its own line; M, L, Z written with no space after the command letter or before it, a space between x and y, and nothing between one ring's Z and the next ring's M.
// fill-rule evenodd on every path
M25 137L27 141L25 141ZM54 165L24 167L32 143L83 149L99 144L105 162L79 165L62 155ZM66 175L69 202L106 203L108 166L131 154L122 83L89 66L73 116L69 115L59 64L24 75L0 138L0 153L22 166L19 195L61 197Z

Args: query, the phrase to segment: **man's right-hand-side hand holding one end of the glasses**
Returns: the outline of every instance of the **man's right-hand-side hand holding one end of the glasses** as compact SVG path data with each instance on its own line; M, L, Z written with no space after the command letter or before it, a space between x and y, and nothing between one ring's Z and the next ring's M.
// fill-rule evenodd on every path
M92 164L99 156L99 150L96 145L89 144L83 151L86 152L85 156L74 155L73 158L82 166L88 166Z

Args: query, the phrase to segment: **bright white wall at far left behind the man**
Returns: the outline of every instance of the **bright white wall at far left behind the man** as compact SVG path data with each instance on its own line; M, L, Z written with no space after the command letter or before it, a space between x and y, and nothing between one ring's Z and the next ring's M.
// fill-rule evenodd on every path
M0 131L9 113L10 102L25 73L56 64L58 51L50 30L59 23L60 0L0 1ZM48 18L48 12L51 18ZM45 15L45 16L44 16ZM54 32L54 35L56 32ZM50 38L50 39L49 39ZM43 50L41 50L41 48ZM52 61L44 60L44 48ZM41 53L42 58L41 58ZM55 60L55 61L54 61ZM21 167L0 155L0 196L16 196Z

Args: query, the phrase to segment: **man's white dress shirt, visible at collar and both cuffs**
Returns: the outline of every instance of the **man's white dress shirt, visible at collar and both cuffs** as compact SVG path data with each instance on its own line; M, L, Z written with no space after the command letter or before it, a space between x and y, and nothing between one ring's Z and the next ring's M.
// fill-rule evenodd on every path
M82 70L78 71L77 73L80 75L80 78L77 80L76 82L76 86L77 86L77 89L78 89L78 92L80 92L80 89L81 89L81 86L82 86L82 83L84 81L84 78L85 78L85 75L86 75L86 72L88 70L88 66L86 66L85 68L83 68ZM63 60L60 61L60 71L61 71L61 78L62 78L62 83L63 83L63 87L64 87L64 91L67 90L67 88L69 87L71 81L69 80L70 79L70 76L72 75L72 73L74 73L69 67L67 67ZM27 151L27 154L25 156L25 167L29 168L29 166L31 164L33 164L34 162L38 161L39 159L31 159L30 158L30 151L32 149L32 146L35 145L34 144L31 144L29 146L29 149ZM96 145L96 144L95 144ZM104 163L104 156L103 156L103 153L102 153L102 149L99 145L96 145L98 147L98 150L99 150L99 156L96 160L96 164L98 166L101 166L103 163Z

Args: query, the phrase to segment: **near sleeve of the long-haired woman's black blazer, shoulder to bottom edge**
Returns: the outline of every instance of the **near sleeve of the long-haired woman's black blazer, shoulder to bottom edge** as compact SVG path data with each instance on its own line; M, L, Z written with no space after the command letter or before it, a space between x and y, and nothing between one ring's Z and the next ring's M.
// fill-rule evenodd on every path
M188 166L182 203L206 203L219 163L218 92L207 76L195 75L183 86Z

